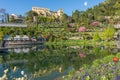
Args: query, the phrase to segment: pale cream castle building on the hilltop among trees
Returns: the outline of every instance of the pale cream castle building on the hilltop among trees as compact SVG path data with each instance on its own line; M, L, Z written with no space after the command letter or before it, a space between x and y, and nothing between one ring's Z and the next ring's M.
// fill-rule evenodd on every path
M63 9L60 9L58 11L50 11L48 8L40 8L40 7L32 7L32 11L35 11L38 13L38 15L41 15L43 17L50 16L52 18L61 18L64 14Z

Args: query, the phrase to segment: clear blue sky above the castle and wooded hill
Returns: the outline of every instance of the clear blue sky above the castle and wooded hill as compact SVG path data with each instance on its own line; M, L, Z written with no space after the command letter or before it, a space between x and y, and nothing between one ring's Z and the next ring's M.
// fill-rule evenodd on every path
M63 9L68 15L73 11L86 10L104 0L0 0L0 8L6 9L9 14L22 14L31 10L32 6L49 8L51 11ZM84 5L85 3L85 5Z

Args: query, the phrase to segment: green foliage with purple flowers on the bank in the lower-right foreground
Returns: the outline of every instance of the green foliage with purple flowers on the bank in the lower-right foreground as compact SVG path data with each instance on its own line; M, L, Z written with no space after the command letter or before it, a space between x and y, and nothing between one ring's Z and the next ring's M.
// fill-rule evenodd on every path
M113 57L113 55L109 55L103 59L97 59L93 61L92 66L82 67L82 70L76 71L74 75L67 75L65 78L74 77L74 79L79 78L79 80L119 80L120 63L113 62Z

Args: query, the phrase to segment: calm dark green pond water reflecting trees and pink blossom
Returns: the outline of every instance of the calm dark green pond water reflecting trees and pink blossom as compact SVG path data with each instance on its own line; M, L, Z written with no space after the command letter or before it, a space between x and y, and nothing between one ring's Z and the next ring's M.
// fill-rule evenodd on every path
M21 71L34 80L55 80L78 70L95 59L116 54L119 49L109 46L19 45L0 51L0 76L9 69L9 80L21 77ZM15 71L14 71L14 68Z

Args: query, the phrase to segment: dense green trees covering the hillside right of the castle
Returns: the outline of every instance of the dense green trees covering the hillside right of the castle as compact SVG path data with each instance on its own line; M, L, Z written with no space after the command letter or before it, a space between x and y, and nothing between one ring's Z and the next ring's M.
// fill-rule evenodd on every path
M119 16L120 13L120 4L119 1L105 0L99 5L95 5L93 8L88 8L86 11L78 11L75 10L72 14L72 18L75 23L81 25L85 25L86 27L90 27L90 24L93 24L94 21L98 21L99 23L94 23L94 26L98 26L99 24L109 24L109 19L105 19L107 17L113 17L113 21L115 21L115 16ZM118 20L117 20L118 21Z

